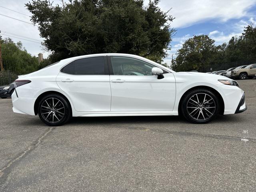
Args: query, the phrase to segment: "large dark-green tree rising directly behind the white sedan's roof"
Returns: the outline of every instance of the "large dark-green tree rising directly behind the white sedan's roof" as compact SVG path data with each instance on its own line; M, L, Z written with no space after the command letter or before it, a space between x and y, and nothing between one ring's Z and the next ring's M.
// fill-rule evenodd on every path
M26 4L39 25L50 59L96 53L128 53L161 62L170 49L174 19L152 0L70 0L53 6L48 0Z

